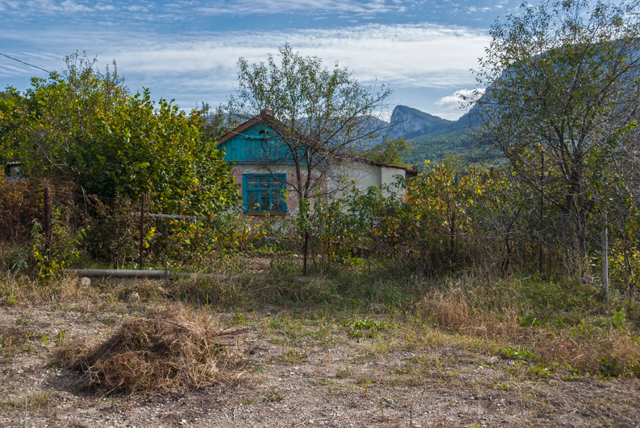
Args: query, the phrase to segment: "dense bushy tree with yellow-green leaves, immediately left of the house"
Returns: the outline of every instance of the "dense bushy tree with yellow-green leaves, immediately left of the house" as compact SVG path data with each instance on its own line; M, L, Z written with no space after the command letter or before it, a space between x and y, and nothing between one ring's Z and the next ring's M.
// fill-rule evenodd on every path
M134 95L104 120L69 166L86 191L113 197L155 196L168 213L208 215L238 198L229 167L215 142L204 139L194 112L186 116L171 102Z

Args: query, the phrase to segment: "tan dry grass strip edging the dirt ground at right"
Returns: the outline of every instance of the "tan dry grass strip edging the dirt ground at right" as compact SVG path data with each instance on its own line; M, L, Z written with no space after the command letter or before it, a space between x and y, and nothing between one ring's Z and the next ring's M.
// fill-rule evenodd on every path
M464 291L452 287L434 291L419 305L422 318L448 333L530 350L540 363L587 371L605 377L640 377L640 341L627 323L616 326L608 318L585 319L578 326L524 326L518 310L501 302L501 310L486 309L491 299L481 287ZM593 318L593 317L592 317ZM601 325L599 325L601 324Z

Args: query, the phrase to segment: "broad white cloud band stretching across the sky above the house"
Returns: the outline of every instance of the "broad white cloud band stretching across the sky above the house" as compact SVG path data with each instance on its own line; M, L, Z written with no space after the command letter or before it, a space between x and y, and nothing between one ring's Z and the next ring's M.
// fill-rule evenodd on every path
M359 80L393 81L395 85L450 87L473 82L469 69L484 52L489 37L464 27L368 24L346 28L293 31L199 32L186 36L110 32L8 31L5 38L31 41L35 46L56 43L57 50L87 50L103 60L115 58L141 73L193 73L233 70L238 57L250 63L289 43L302 55L317 55L326 65L336 60L355 70ZM60 44L64 41L64 44Z

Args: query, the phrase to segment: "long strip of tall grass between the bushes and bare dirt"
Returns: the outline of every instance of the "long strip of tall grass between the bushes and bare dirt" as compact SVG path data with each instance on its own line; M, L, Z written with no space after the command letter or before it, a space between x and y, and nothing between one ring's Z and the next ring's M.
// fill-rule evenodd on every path
M196 276L162 285L87 287L74 278L43 284L10 273L0 277L0 304L81 299L124 304L131 291L138 291L143 301L181 301L219 311L260 311L276 305L303 314L321 312L336 320L375 315L412 329L407 337L441 331L494 343L487 350L526 351L555 368L640 375L635 306L619 295L603 303L595 298L596 287L577 278L488 279L471 273L393 277L375 269L347 269L331 277Z

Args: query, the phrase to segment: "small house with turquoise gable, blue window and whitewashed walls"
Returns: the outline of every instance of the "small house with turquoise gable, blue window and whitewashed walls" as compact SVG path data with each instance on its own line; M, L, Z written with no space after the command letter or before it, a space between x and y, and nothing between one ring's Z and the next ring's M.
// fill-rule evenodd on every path
M262 112L218 140L218 148L225 149L226 161L234 164L231 173L240 186L247 215L294 213L298 208L297 190L308 184L315 187L309 194L332 197L346 195L354 188L384 189L398 177L417 175L417 171L403 166L338 156L304 136L295 137L297 144L286 144L277 126L277 121ZM309 168L306 159L312 159Z

